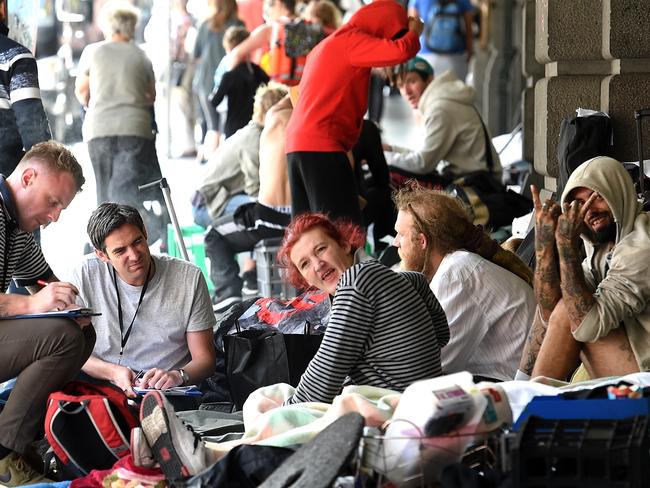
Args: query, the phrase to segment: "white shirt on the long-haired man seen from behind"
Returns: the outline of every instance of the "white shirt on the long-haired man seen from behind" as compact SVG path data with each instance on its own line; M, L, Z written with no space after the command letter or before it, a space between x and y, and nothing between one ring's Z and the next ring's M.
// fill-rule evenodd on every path
M451 334L442 349L443 372L513 379L533 323L533 289L478 254L455 251L443 258L431 290Z

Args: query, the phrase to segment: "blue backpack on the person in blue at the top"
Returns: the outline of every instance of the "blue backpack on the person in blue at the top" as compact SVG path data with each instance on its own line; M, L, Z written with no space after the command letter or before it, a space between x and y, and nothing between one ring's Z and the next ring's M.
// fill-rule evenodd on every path
M465 51L465 16L454 0L434 0L429 9L424 40L434 53L456 54Z

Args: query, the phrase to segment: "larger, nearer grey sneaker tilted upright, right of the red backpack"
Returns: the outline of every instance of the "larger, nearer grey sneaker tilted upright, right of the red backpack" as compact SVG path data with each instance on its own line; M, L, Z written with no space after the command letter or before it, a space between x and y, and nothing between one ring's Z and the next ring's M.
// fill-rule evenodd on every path
M179 419L159 391L148 393L140 423L153 456L168 480L194 476L213 464L213 457L192 427Z

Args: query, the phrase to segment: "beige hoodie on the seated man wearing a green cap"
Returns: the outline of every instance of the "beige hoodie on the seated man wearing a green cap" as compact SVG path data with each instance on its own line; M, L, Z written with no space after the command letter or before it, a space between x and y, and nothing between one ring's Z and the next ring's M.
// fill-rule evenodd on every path
M394 148L389 164L422 175L436 171L440 162L454 176L486 170L485 136L474 109L475 98L474 88L451 71L436 76L418 103L424 125L422 146L414 151ZM501 163L492 143L490 150L495 178L500 181Z

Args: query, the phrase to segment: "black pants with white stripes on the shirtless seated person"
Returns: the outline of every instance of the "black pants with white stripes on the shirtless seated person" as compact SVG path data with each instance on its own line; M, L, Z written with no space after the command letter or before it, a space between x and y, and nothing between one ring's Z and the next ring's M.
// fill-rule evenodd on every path
M289 220L288 214L255 202L214 222L205 236L205 254L210 258L215 297L221 300L241 296L243 282L235 254L252 251L263 239L282 237Z

